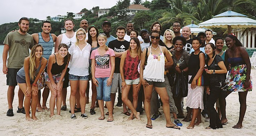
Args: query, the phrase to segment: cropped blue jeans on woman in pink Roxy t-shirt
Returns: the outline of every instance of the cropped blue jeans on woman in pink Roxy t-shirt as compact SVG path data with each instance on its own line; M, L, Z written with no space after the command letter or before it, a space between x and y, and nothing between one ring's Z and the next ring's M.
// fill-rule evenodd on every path
M103 100L103 101L111 101L110 99L110 92L111 92L111 86L107 86L107 80L109 77L103 77L103 78L96 78L99 82L97 89L97 100Z

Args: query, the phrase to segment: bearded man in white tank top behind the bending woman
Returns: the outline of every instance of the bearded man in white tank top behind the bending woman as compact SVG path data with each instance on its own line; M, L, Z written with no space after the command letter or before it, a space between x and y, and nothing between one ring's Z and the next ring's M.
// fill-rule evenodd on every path
M71 19L66 19L64 21L64 27L66 29L66 33L63 33L61 35L58 35L55 43L55 52L58 52L58 45L60 44L66 44L69 48L72 44L75 44L76 38L75 38L75 32L74 32L74 27L75 24L73 20ZM70 50L70 49L68 49ZM67 105L66 105L66 98L67 98L67 87L69 86L69 74L68 72L70 71L70 68L68 66L66 74L64 76L64 82L63 82L63 88L62 88L62 106L61 110L67 110ZM81 111L81 109L75 109L75 111Z

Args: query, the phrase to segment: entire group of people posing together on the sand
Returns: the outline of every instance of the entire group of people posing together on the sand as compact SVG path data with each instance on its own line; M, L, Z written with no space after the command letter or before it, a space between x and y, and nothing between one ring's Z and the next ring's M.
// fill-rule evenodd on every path
M183 27L180 33L179 22L174 22L173 30L165 30L163 36L160 35L159 22L152 24L151 33L146 29L138 32L128 22L126 27L116 28L117 38L110 35L111 23L108 21L102 24L103 33L99 33L95 25L89 26L85 19L81 20L80 28L74 32L74 22L66 19L66 33L58 36L50 33L52 27L48 21L43 22L41 33L32 35L27 33L28 18L22 17L18 25L19 30L8 33L4 41L7 116L14 116L12 102L17 84L17 113L25 114L26 120L37 120L36 111L48 109L46 102L49 92L50 117L54 115L55 106L58 115L61 110L67 110L67 87L70 85L70 117L76 119L75 113L81 112L81 117L86 119L89 80L92 80L90 114L96 113L98 104L98 120L104 120L105 115L109 116L108 122L114 120L114 101L118 92L117 106L123 106L123 114L130 116L128 120L140 120L140 114L145 109L147 128L153 128L151 120L161 115L160 103L167 128L180 129L178 126L182 126L182 123L178 119L184 118L182 121L191 121L187 128L193 129L201 123L201 114L210 119L207 129L223 128L228 123L225 98L231 92L239 92L239 121L233 128L242 128L246 96L252 90L250 59L234 35L225 38L228 49L224 52L224 40L216 38L214 41L212 30L207 29L198 37L191 38L189 27ZM53 47L55 53L52 54ZM183 113L184 97L187 97L186 117ZM219 114L214 109L216 102ZM104 107L108 109L106 114ZM170 113L173 114L174 123ZM150 117L150 114L153 116Z

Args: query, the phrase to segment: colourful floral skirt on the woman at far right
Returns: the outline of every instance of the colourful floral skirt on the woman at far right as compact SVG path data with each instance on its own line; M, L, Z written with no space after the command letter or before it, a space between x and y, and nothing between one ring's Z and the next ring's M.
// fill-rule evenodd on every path
M249 79L249 87L245 88L247 66L245 64L231 67L228 72L226 83L228 84L228 91L232 92L245 92L252 91L253 83L252 77Z

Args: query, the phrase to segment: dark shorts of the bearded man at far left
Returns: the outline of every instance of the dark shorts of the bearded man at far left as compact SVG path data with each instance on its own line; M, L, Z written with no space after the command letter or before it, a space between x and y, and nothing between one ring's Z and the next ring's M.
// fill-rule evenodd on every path
M6 85L10 85L10 86L16 86L17 85L17 80L16 80L16 76L17 76L17 72L19 71L20 68L8 68L8 72L7 72L7 80L6 80Z

